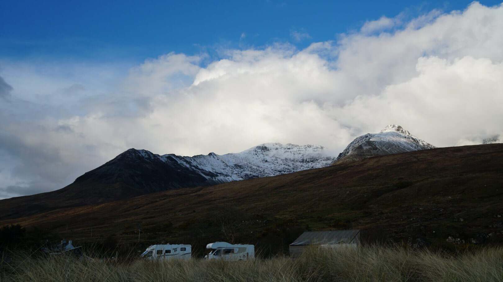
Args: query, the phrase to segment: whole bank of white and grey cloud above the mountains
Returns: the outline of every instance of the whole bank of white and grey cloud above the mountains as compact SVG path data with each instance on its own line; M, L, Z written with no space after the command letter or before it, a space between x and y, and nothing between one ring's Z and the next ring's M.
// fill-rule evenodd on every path
M335 156L389 123L437 147L503 134L503 6L384 32L388 20L302 50L170 53L127 73L0 61L0 198L59 189L129 148L192 156L281 142Z

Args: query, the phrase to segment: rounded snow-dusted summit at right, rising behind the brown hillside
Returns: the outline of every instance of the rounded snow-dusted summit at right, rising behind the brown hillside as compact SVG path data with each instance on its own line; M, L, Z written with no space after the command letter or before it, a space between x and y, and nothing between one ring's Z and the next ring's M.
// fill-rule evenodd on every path
M333 164L433 148L436 147L410 134L400 125L390 124L379 133L367 133L355 138Z

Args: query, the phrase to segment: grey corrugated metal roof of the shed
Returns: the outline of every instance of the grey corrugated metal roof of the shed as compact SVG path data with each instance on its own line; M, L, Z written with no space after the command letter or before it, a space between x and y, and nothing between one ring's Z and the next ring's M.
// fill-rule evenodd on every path
M290 245L323 245L351 243L360 230L306 231Z

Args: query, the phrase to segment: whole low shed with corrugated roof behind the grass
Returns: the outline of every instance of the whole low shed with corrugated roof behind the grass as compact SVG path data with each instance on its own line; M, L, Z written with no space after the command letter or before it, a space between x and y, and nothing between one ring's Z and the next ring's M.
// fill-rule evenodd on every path
M306 231L290 244L290 256L299 257L309 246L338 247L342 245L358 246L360 230Z

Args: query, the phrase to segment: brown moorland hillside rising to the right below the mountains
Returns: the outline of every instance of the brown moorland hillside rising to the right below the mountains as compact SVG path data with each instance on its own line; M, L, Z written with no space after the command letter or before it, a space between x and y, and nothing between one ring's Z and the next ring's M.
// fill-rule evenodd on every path
M362 229L411 244L503 242L503 144L379 156L171 190L17 219L80 242L256 243L286 251L304 230ZM456 240L457 239L457 240ZM269 248L269 249L268 249Z

